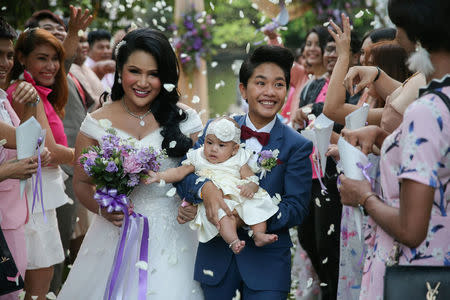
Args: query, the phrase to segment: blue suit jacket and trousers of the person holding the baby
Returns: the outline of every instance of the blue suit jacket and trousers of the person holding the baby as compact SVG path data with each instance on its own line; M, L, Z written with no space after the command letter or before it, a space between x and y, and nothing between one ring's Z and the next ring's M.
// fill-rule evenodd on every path
M240 126L245 123L245 115L234 119ZM204 133L208 125L209 122ZM194 148L200 147L203 142L204 134ZM277 234L278 241L256 247L247 231L238 230L239 238L245 240L246 246L236 255L236 261L245 284L253 290L289 291L292 246L289 228L301 224L305 219L311 195L309 155L312 143L277 118L270 132L269 143L262 150L275 149L280 151L278 159L282 163L267 172L260 180L260 186L271 196L280 194L282 199L278 205L279 211L267 221L267 231ZM197 195L204 182L196 185L197 178L195 174L190 174L177 184L178 194L186 201L201 201ZM207 285L218 284L228 270L232 255L233 252L220 236L207 243L199 243L194 279ZM214 276L207 275L209 272L205 274L204 270L213 271Z

